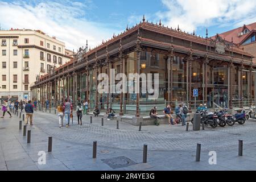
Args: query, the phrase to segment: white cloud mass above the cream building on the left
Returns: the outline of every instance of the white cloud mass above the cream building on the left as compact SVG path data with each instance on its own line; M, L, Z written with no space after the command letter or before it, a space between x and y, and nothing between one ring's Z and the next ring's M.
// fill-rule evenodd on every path
M116 32L106 24L90 22L85 18L90 1L0 1L0 23L2 27L42 30L66 43L68 49L85 46L88 39L92 48Z

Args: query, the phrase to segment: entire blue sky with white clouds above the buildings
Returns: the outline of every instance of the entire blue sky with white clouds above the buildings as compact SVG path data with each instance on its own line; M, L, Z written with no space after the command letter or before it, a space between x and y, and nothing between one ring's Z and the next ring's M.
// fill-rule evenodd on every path
M66 43L68 49L93 48L142 20L196 31L205 36L256 22L253 0L0 0L4 30L42 30Z

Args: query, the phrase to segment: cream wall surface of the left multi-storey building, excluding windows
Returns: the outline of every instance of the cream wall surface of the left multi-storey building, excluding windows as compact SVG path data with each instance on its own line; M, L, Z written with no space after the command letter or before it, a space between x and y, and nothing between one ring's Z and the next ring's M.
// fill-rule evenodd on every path
M47 73L47 65L59 67L70 60L68 57L63 56L65 54L65 43L43 35L40 32L9 30L0 31L1 36L19 36L19 38L0 38L0 98L2 96L18 96L19 99L23 99L24 95L30 93L30 85L36 81L36 75L41 76ZM29 39L29 43L25 43L25 38ZM6 40L6 46L2 46L2 40ZM13 45L14 40L18 41L18 46L38 46L47 49L47 51L38 48L19 48ZM40 44L41 41L43 45ZM47 43L49 43L49 48ZM56 46L56 50L53 49L53 46ZM28 49L28 58L24 57L25 49ZM6 50L6 56L2 55L2 50ZM14 50L18 51L17 55L14 55ZM56 53L48 52L48 50ZM40 59L40 52L43 52L44 60ZM51 55L50 62L47 61L47 53ZM57 55L58 53L63 55ZM53 63L53 55L57 57L56 64ZM62 64L59 64L59 57L62 59ZM17 62L17 68L14 68L14 61ZM28 71L24 69L26 61L28 62ZM6 62L6 68L2 68L2 62ZM46 72L41 72L41 63L44 64ZM6 75L6 81L2 81L2 75ZM16 83L14 83L14 75L18 77ZM26 84L24 83L24 75L28 75L28 83ZM6 89L3 89L3 85L6 85ZM14 88L14 85L17 88ZM25 89L25 85L27 85L28 90ZM31 98L29 97L29 99Z

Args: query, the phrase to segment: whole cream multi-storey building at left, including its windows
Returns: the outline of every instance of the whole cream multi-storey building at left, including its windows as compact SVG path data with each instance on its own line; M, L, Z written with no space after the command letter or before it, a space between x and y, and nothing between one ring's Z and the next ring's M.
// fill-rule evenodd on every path
M71 60L65 43L39 30L0 30L0 43L2 100L31 99L30 86L36 76L46 75L53 67Z

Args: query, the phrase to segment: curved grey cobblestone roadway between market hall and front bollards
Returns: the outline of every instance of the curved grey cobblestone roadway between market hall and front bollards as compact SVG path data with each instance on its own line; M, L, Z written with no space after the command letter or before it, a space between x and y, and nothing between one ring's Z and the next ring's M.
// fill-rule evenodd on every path
M256 139L254 121L224 128L206 127L204 131L191 131L190 125L190 131L185 132L185 126L181 125L142 126L142 131L138 131L137 126L124 122L119 122L120 129L117 130L116 121L104 119L104 126L101 126L101 118L93 117L93 124L90 124L89 116L82 118L82 127L77 125L74 118L71 127L59 129L57 117L53 114L39 112L35 114L35 118L40 118L36 121L36 126L56 138L82 144L91 144L97 140L101 146L121 149L138 150L147 143L149 150L192 150L196 143L201 143L202 150L227 150L236 148L238 139L243 139L246 143L255 142Z

